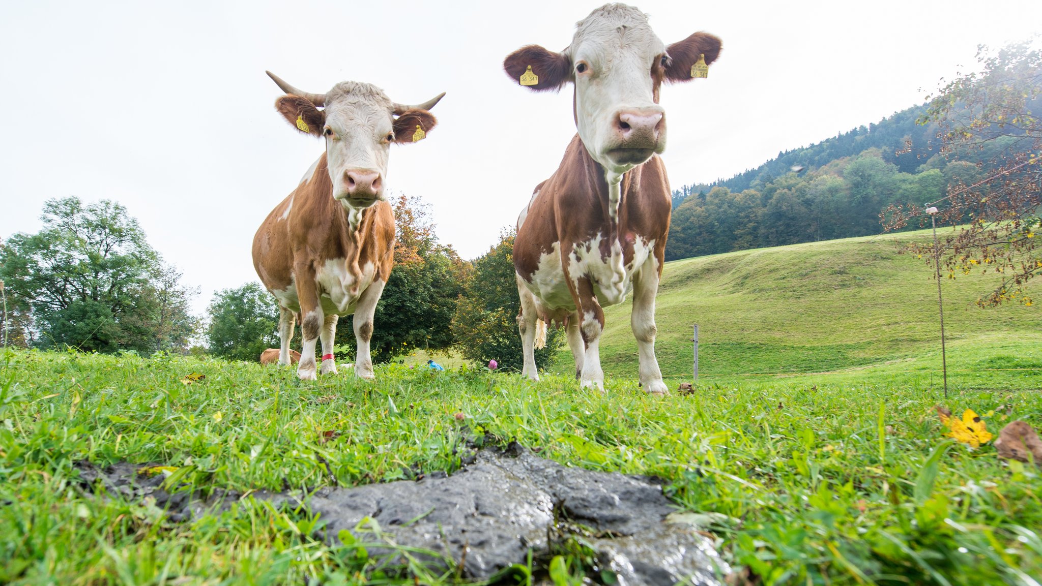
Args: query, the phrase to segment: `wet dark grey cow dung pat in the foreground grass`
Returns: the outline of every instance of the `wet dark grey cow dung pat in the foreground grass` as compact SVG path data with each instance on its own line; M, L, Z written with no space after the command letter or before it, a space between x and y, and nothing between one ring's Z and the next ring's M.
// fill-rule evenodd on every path
M208 500L185 492L168 494L162 479L139 477L141 464L99 469L78 465L81 478L101 482L109 494L150 496L174 520L224 510L239 501L235 491L216 490ZM512 442L506 450L485 449L452 476L430 474L419 481L396 481L351 488L324 487L309 495L254 491L250 496L275 506L303 505L326 523L322 533L336 542L341 530L366 541L431 550L463 560L464 575L492 577L512 564L549 559L548 539L578 537L597 555L602 569L619 584L672 585L683 580L720 586L729 572L713 543L688 523L667 523L677 511L651 479L563 466ZM376 521L371 532L366 517ZM358 529L356 529L358 528ZM374 528L373 528L374 529ZM369 533L367 533L369 532ZM374 557L393 558L393 549L367 547ZM467 550L464 556L464 549ZM439 571L444 558L424 559Z

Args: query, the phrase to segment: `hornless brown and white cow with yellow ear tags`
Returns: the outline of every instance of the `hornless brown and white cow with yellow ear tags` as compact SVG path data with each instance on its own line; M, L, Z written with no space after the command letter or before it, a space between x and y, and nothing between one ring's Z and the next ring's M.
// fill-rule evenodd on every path
M561 167L536 186L518 218L514 266L524 375L539 379L534 348L545 341L547 322L562 321L576 377L603 390L601 307L632 292L640 381L647 392L666 392L654 356L654 298L670 213L658 156L666 148L659 88L692 79L696 69L704 71L700 60L708 66L719 54L712 34L696 32L667 47L646 15L605 4L579 21L564 51L529 45L503 61L507 75L537 92L574 83L578 129Z

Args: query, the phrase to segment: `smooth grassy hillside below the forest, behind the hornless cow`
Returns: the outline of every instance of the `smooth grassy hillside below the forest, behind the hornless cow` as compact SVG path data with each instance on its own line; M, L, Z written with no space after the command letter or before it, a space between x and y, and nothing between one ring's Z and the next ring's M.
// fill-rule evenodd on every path
M690 378L695 323L703 382L888 363L889 371L939 367L932 269L898 254L899 243L927 237L908 232L668 262L656 316L663 374ZM974 305L996 283L991 275L942 279L949 368L1042 367L1037 305ZM629 312L629 302L605 311L601 358L620 377L637 376ZM571 371L571 360L566 348L554 370Z

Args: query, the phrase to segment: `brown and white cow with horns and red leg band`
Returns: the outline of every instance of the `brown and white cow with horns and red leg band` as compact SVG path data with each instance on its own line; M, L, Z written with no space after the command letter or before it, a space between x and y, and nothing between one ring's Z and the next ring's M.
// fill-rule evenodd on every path
M304 335L297 375L316 378L319 337L322 374L336 373L337 320L353 313L354 371L371 379L373 312L394 261L394 212L383 190L391 144L423 138L437 124L428 110L445 94L405 106L369 83L344 81L309 94L268 75L286 92L275 109L301 132L325 139L325 152L253 236L253 266L278 300L278 363L290 363L299 313Z

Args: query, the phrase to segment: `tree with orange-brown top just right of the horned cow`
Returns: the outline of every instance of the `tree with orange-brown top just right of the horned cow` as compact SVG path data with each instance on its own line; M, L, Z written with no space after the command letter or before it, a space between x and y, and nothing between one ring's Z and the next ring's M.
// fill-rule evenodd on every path
M373 316L373 360L386 362L417 348L440 350L454 338L450 324L469 263L438 243L429 206L400 195L394 202L395 265ZM353 352L353 317L337 329L337 342Z

